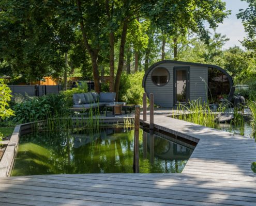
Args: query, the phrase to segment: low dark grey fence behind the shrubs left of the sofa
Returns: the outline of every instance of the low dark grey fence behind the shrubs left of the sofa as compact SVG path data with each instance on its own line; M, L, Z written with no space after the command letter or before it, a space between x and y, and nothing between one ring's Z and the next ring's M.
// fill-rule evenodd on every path
M28 96L43 96L46 94L58 94L62 90L61 85L8 85L11 95L27 94Z

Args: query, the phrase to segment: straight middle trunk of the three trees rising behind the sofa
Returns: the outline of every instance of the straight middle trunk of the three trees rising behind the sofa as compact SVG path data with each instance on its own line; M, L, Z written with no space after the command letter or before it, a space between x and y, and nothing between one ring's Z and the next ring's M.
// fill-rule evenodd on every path
M109 45L110 45L110 55L109 55L109 91L114 92L115 90L115 64L114 64L114 32L109 34Z

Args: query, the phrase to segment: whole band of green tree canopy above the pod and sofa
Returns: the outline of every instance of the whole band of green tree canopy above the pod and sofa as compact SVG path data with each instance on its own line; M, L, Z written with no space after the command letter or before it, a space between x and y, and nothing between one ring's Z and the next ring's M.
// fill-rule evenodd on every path
M255 1L247 2L237 16L252 50ZM108 75L117 95L125 69L147 70L165 58L218 64L235 76L254 57L238 47L223 50L228 37L210 32L229 14L221 0L2 0L0 75L31 81L79 70L98 92L100 74Z

